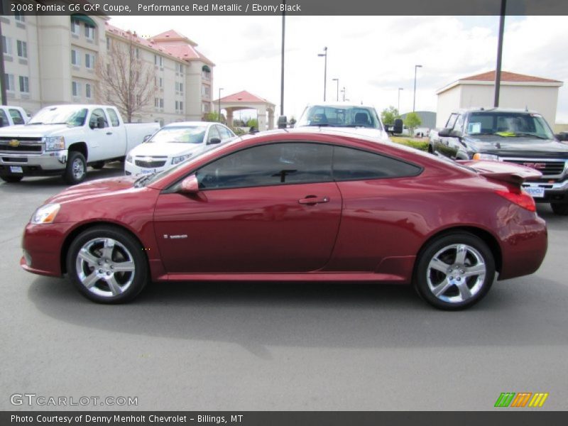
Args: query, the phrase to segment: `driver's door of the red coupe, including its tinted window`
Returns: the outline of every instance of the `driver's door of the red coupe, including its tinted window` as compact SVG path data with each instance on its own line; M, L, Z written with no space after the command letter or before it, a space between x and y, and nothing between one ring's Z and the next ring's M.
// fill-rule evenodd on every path
M320 143L246 148L197 170L197 195L160 195L154 223L168 273L324 268L342 212L332 151Z

